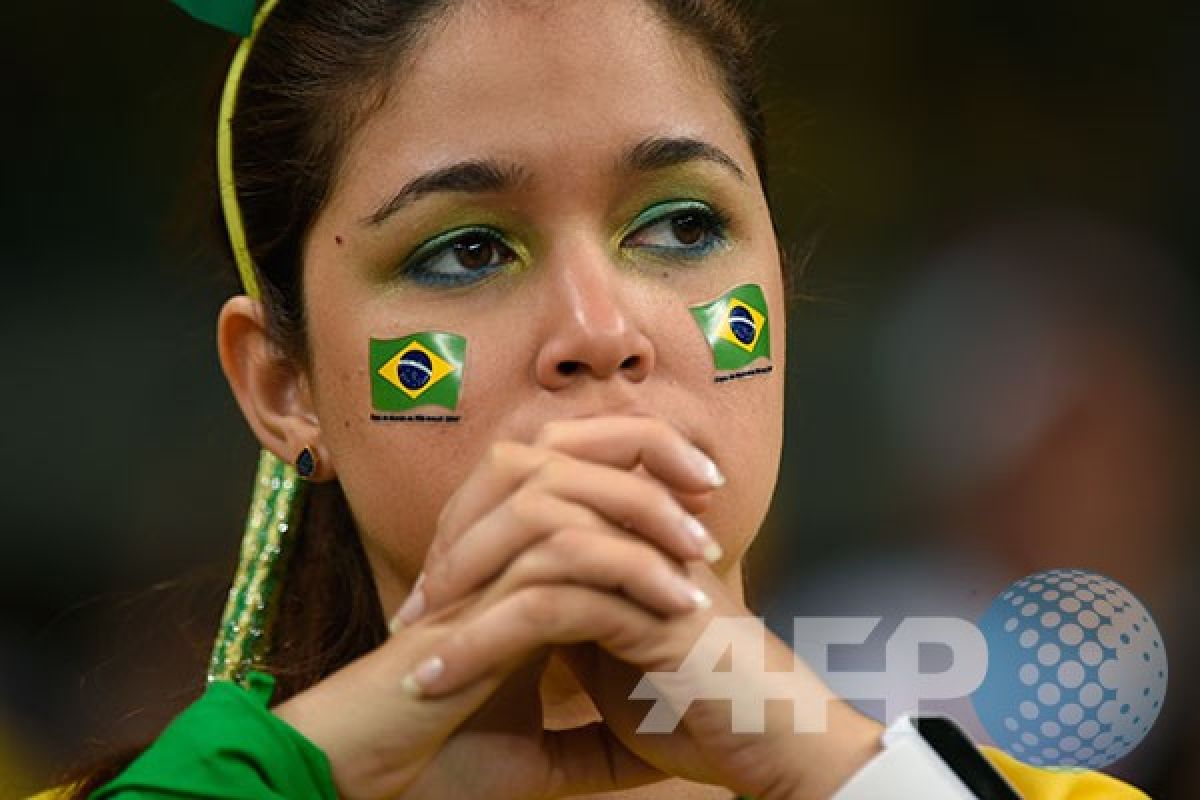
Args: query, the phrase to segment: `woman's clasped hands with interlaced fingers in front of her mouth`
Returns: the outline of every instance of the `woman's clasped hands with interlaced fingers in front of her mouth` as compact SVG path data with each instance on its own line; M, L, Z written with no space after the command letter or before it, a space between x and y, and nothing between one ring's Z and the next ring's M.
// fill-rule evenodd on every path
M672 776L760 800L828 798L880 728L769 632L773 672L737 680L798 681L793 696L828 702L826 733L797 734L786 703L768 703L764 732L736 733L727 699L690 703L673 733L637 733L642 675L678 670L714 616L761 626L695 517L722 483L654 417L558 420L532 444L494 443L445 504L389 640L275 712L352 799L551 800ZM552 655L601 720L545 729Z

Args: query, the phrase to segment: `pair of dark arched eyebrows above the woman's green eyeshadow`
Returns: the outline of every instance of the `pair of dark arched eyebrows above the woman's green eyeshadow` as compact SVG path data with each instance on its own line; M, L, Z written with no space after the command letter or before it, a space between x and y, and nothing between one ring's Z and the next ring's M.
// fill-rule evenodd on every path
M626 150L617 161L624 172L650 173L679 167L694 161L707 161L731 172L739 181L745 173L720 148L690 137L652 137ZM528 178L518 164L505 164L493 158L473 158L448 167L439 167L418 175L404 185L379 209L366 217L367 225L380 225L394 213L419 198L437 192L504 192Z

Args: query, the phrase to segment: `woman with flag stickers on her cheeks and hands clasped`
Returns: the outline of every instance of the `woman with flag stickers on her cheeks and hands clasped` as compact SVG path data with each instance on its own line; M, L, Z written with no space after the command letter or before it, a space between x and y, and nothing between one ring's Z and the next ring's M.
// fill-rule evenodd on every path
M743 600L785 367L751 49L724 0L259 13L226 210L262 300L218 347L311 483L275 705L215 684L94 796L827 798L872 758ZM736 684L823 732L701 698L637 733L647 673L718 680L718 618L766 642Z

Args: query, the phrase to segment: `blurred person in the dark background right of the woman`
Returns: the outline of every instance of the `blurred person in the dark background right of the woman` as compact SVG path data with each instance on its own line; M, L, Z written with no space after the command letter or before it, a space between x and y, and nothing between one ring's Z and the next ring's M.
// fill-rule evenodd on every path
M868 535L868 554L784 582L774 625L978 619L1012 581L1078 567L1139 596L1172 673L1188 675L1200 664L1188 634L1200 585L1194 318L1194 287L1160 247L1081 213L1026 212L947 245L877 336L895 524ZM830 667L869 669L878 652L840 658ZM1182 757L1198 700L1194 684L1172 682L1164 715L1115 770L1153 796L1200 790ZM986 738L965 698L930 706Z

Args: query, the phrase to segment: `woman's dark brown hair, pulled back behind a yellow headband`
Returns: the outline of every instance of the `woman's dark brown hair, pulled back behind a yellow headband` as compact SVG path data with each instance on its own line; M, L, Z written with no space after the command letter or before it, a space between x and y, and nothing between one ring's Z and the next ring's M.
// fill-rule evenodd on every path
M385 101L395 70L456 2L283 0L259 32L233 119L234 176L269 332L288 357L307 361L304 246L337 178L346 142ZM758 37L746 13L736 0L646 2L671 31L708 56L766 192ZM233 272L227 243L223 251ZM276 700L320 681L386 637L366 555L336 482L311 487L295 547L274 649L263 664L276 675ZM86 796L136 754L114 756L90 769L74 782L73 795Z

